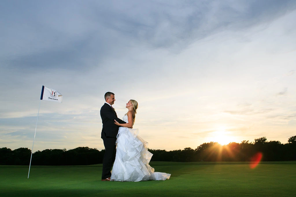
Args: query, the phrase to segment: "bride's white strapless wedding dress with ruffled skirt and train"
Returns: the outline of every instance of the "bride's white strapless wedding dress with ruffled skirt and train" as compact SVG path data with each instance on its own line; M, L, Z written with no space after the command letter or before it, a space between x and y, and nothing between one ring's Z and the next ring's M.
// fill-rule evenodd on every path
M127 115L124 115L122 120L128 123ZM153 154L147 150L148 143L139 137L138 133L139 129L119 127L111 181L169 179L170 174L154 172L154 168L149 165Z

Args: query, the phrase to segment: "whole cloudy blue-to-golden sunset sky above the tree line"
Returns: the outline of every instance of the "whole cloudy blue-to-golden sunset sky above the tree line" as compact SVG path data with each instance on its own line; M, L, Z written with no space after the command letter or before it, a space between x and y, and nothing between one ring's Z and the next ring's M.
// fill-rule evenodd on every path
M1 1L0 147L104 149L100 108L150 149L296 135L296 2ZM63 102L42 100L42 85ZM40 104L38 122L37 114Z

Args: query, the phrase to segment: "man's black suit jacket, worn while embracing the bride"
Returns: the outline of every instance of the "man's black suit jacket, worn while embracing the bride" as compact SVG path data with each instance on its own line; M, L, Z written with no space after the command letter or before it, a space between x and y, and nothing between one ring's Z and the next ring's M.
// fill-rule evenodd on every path
M107 103L105 103L100 111L101 118L102 118L102 123L103 123L103 128L102 128L102 134L101 138L106 138L106 137L113 137L116 138L118 134L118 128L114 120L117 122L124 124L123 120L120 120L117 117L117 114L113 108L110 107Z

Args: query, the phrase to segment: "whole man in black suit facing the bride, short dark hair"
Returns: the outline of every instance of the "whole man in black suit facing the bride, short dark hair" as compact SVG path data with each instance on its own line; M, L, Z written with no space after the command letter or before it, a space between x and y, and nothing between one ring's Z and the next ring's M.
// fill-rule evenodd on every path
M102 172L102 181L110 181L111 177L111 167L115 160L116 153L116 136L118 134L119 126L114 124L114 120L119 123L126 123L119 118L113 109L112 105L114 104L115 97L114 93L106 92L105 93L105 104L102 106L100 114L102 118L103 128L101 138L103 139L105 146L105 154L103 158L103 172Z

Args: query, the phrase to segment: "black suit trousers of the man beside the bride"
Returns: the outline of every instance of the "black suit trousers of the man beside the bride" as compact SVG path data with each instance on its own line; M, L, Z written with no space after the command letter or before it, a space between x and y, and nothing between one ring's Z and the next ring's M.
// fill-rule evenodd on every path
M115 161L116 156L116 138L104 137L105 154L103 158L102 179L111 177L111 167Z

